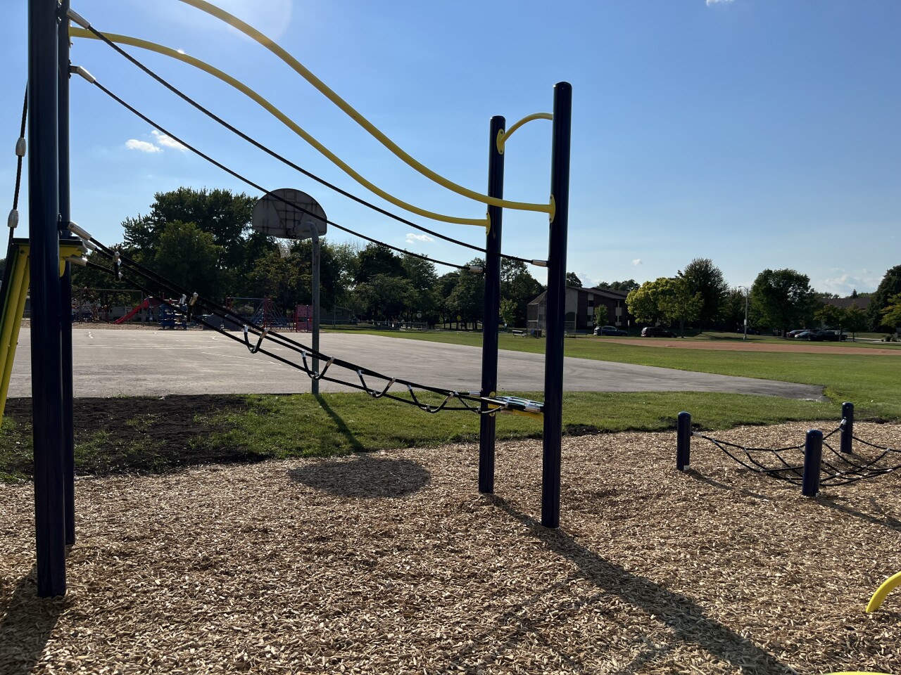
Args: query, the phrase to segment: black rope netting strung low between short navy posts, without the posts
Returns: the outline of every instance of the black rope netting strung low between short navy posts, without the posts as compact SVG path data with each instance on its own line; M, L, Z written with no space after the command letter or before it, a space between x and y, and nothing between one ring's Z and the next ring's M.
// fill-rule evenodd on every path
M842 453L829 442L835 434L844 433L845 419L823 437L820 462L820 485L847 485L852 482L885 475L901 469L901 450L878 446L851 435L859 446L852 453ZM805 445L778 448L745 447L693 431L692 437L704 438L723 451L737 464L754 473L762 473L801 485L804 476ZM897 462L897 464L892 464Z

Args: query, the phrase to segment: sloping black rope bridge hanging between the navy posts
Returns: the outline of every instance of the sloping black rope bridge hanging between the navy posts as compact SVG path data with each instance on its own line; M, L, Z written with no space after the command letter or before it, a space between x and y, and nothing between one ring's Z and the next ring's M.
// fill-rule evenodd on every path
M229 308L212 302L197 293L190 293L178 288L176 284L157 275L148 267L123 256L119 251L106 247L75 223L70 223L68 229L85 242L87 250L94 250L108 258L112 263L112 267L98 265L83 257L69 257L69 262L105 271L112 275L116 281L133 284L149 297L159 301L161 306L168 307L172 311L180 311L179 308L187 306L186 320L194 320L208 329L215 330L226 338L243 344L251 354L262 354L282 364L296 368L296 370L305 373L310 380L341 384L360 392L366 392L374 399L385 398L400 403L407 403L428 413L441 412L442 410L468 410L469 412L487 415L505 411L516 412L529 417L540 417L542 414L542 403L538 401L505 396L486 397L480 396L479 392L456 392L441 389L440 387L432 387L391 377L370 368L356 365L334 356L328 356L297 342L293 338L259 326L252 320L247 320ZM126 273L131 276L127 276ZM135 277L146 280L148 284L142 284ZM156 292L150 290L151 285L159 290ZM173 301L171 299L173 296L180 296L180 300ZM212 317L216 317L218 320L213 320ZM223 320L226 319L238 322L242 326L242 337L233 335L231 332L223 329ZM297 355L296 357L300 359L299 363L284 356L279 356L272 351L273 348L282 348L294 352ZM309 359L323 361L322 369L314 370L310 365ZM356 375L356 381L332 377L327 374L330 369L350 371ZM405 395L392 391L395 387L405 388ZM419 392L418 395L417 391ZM486 404L484 410L482 403Z

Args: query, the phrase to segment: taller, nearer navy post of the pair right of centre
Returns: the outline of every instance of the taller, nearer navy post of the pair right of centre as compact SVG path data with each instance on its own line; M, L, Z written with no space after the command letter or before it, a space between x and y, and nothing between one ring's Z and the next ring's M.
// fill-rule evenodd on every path
M572 85L554 86L551 218L548 247L547 340L544 351L542 525L560 527L560 445L563 436L563 338L566 320L566 244L569 225L569 140Z

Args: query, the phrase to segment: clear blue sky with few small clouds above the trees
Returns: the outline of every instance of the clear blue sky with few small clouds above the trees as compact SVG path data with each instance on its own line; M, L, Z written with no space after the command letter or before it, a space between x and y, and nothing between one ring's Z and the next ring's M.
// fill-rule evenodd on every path
M583 283L675 275L709 257L731 285L765 268L818 291L873 291L901 264L901 3L896 0L217 0L267 33L411 155L484 192L488 121L551 112L573 86L569 260ZM5 104L0 198L12 204L27 16L0 0ZM485 208L414 173L257 43L178 0L73 0L100 31L201 58L263 94L360 174L422 208ZM386 205L231 87L130 48L160 75L297 164ZM314 184L208 121L111 49L75 40L72 60L159 125L269 189L305 190L330 220L465 263L473 252ZM180 185L257 194L72 80L73 220L96 238ZM507 146L505 197L546 202L551 123ZM23 199L23 225L27 227ZM8 206L7 206L8 208ZM410 220L469 243L484 230ZM547 217L506 211L504 249L547 256ZM348 240L337 230L332 240ZM448 271L439 267L439 273ZM544 281L542 270L536 278Z

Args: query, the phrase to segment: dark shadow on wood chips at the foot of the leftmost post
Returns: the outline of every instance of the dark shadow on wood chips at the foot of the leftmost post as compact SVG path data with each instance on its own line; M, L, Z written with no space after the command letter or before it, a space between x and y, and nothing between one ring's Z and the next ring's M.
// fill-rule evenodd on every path
M7 675L32 672L65 608L63 598L38 598L35 575L32 568L19 581L0 621L0 671Z

